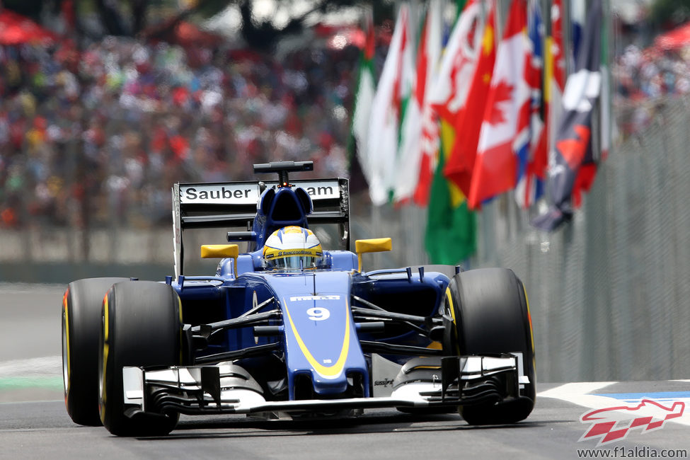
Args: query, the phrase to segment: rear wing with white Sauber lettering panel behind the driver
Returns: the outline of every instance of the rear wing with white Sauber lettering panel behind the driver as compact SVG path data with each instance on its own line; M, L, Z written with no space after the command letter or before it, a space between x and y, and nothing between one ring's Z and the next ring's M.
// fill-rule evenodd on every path
M312 224L337 224L339 248L350 249L350 183L345 178L290 180L314 203ZM251 231L264 190L273 181L176 183L173 185L173 258L175 276L183 275L183 234L187 229L235 228Z

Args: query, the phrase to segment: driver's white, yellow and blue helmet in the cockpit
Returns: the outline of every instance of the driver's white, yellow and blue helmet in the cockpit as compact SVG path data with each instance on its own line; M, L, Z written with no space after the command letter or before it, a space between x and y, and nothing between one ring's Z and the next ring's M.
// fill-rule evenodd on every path
M314 268L321 263L322 257L321 243L314 232L296 225L274 231L263 246L263 260L268 268Z

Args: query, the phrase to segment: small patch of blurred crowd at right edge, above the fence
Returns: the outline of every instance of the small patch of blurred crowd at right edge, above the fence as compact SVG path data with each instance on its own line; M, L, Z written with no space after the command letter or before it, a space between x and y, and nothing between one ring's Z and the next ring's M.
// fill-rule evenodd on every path
M690 47L628 45L612 70L618 90L615 113L624 136L647 127L666 98L690 93Z

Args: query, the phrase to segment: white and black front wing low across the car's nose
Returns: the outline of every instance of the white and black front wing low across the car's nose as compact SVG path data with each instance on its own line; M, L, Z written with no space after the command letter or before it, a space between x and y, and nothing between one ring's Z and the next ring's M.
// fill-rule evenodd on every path
M398 384L390 396L267 401L231 363L167 369L123 369L127 415L176 412L187 415L333 413L367 408L435 408L510 401L529 384L517 355L442 359L432 381Z

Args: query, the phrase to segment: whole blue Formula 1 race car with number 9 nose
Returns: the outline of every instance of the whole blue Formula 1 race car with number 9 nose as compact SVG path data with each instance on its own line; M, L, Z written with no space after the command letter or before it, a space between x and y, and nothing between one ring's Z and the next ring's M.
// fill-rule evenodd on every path
M166 435L180 414L267 419L369 408L459 410L473 425L527 418L535 400L527 295L514 272L447 265L366 272L350 251L346 179L299 180L311 162L258 164L277 181L173 186L175 275L71 282L62 305L67 412L114 435ZM335 226L326 250L310 228ZM227 231L242 227L243 231ZM188 276L183 234L213 276ZM219 230L220 231L220 230ZM246 246L240 253L238 244Z

